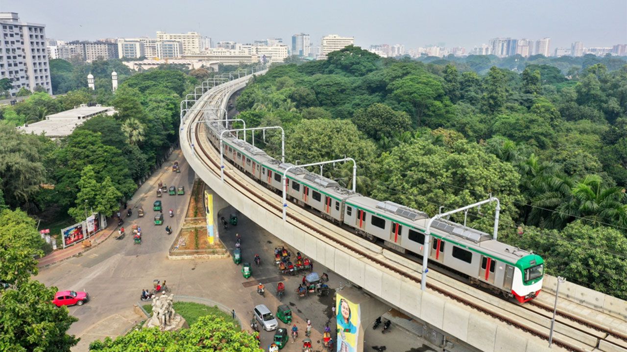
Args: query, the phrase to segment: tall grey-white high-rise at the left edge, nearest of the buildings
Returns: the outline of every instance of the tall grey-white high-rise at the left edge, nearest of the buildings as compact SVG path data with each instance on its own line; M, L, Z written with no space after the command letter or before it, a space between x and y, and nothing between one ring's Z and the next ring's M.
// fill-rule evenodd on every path
M9 94L42 86L52 94L45 24L20 22L17 13L0 13L0 79L9 78Z

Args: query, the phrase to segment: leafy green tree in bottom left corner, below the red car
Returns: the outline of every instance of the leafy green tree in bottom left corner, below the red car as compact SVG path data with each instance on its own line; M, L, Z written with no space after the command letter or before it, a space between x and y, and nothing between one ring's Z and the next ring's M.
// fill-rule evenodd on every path
M70 351L78 338L66 334L78 319L51 303L56 287L30 280L0 293L0 346L6 351Z

